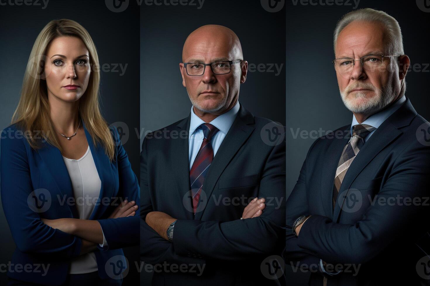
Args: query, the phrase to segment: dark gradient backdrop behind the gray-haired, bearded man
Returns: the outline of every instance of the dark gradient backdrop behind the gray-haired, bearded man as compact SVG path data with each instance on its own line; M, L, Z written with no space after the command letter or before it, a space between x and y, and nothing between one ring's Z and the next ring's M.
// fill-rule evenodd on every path
M291 0L286 2L287 197L298 179L310 145L316 140L315 137L301 138L300 135L294 138L296 132L318 131L320 128L326 132L335 130L351 123L353 116L341 100L331 63L334 59L335 25L342 15L353 10L353 1L349 1L352 6L294 3ZM411 65L419 63L422 70L408 72L405 95L418 114L429 120L427 83L430 80L430 55L427 35L430 13L418 9L415 1L361 0L356 9L361 8L382 10L399 22L405 54L411 59ZM290 285L306 285L300 283L307 281L307 274L291 275L291 266L288 265L286 271Z

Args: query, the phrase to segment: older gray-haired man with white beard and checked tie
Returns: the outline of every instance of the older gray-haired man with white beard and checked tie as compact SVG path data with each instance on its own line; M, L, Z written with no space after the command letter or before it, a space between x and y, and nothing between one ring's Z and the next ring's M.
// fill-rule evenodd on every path
M399 24L374 9L347 13L334 50L352 123L307 153L286 203L287 264L311 271L309 285L424 285L429 124L405 96L410 61Z

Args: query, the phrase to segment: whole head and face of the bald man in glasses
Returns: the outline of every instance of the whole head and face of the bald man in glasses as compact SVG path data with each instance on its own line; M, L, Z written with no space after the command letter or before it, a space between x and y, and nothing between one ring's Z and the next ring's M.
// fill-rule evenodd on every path
M239 38L232 30L220 25L205 25L193 31L185 40L182 61L179 63L182 85L187 88L194 113L205 122L211 122L237 103L240 84L246 80L248 62L243 60ZM230 63L225 63L227 61ZM212 65L202 65L215 62L213 66L230 70L215 73ZM189 75L188 68L200 68L203 74Z

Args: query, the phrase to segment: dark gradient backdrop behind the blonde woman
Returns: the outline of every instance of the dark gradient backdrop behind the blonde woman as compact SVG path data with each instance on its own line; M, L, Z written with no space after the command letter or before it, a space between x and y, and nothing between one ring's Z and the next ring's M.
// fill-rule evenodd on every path
M88 30L98 51L100 64L108 64L109 72L101 71L101 110L108 123L123 122L131 132L124 148L132 169L139 178L139 138L134 128L139 127L139 10L131 1L124 12L115 13L107 9L104 1L54 1L41 6L0 6L0 129L10 125L22 86L25 67L34 41L40 30L51 20L68 18L82 24ZM2 1L2 3L9 3ZM114 64L128 64L122 74ZM0 207L1 208L1 207ZM0 264L12 258L15 243L9 231L3 209L0 209ZM129 260L129 274L123 285L137 285L139 247L124 248ZM0 285L6 285L6 268L2 267Z

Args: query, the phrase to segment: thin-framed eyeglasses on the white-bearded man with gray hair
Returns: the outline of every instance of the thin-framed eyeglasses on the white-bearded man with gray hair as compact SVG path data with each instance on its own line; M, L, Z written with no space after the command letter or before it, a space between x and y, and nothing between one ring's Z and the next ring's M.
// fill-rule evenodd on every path
M384 56L382 54L369 54L367 56L361 57L359 61L363 66L363 69L374 71L382 66L384 57L400 57L398 56ZM343 57L339 59L332 60L332 63L335 66L335 70L339 73L347 73L352 72L353 66L355 66L354 60L350 57Z

